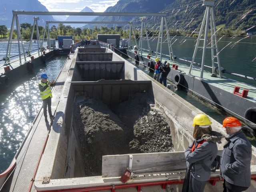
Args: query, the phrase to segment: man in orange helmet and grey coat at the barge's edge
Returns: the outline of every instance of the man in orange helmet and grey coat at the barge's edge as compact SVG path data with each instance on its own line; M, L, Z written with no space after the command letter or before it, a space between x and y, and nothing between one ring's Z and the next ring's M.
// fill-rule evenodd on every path
M220 157L220 174L224 178L223 192L242 192L250 187L252 146L241 131L241 122L234 117L223 120L228 141Z

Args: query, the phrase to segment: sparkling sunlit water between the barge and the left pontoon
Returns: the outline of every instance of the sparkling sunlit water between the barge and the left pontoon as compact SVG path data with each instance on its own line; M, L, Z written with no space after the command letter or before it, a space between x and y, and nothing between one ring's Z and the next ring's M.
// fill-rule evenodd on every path
M42 106L38 91L41 74L56 79L66 58L54 57L0 95L0 173L8 168Z

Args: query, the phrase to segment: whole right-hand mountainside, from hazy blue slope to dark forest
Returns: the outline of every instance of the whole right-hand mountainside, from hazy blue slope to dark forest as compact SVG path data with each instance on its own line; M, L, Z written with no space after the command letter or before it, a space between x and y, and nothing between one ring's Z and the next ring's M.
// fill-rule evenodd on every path
M206 10L206 6L202 4L203 1L198 0L119 0L105 12L166 12L169 28L199 30ZM216 26L222 26L225 30L232 27L235 27L232 30L237 27L245 30L256 23L255 0L215 0L214 12ZM135 26L140 26L138 17L99 16L94 21L136 21ZM148 18L146 25L150 29L156 23L160 25L160 22L161 18ZM91 28L94 26L90 25ZM104 26L114 27L116 24ZM256 28L251 30L256 31Z

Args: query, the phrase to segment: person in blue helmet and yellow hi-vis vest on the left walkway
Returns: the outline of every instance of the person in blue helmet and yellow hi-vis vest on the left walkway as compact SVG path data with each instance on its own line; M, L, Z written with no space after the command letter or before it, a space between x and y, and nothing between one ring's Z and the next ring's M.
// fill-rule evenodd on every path
M49 116L50 116L50 120L52 120L53 116L52 116L52 90L50 87L54 87L55 86L55 81L52 80L52 82L50 82L48 79L47 74L42 74L41 75L41 81L38 84L38 88L40 90L40 96L43 100L43 109L44 109L44 120L47 123L48 119L47 119L47 106L48 106L48 112L49 112Z

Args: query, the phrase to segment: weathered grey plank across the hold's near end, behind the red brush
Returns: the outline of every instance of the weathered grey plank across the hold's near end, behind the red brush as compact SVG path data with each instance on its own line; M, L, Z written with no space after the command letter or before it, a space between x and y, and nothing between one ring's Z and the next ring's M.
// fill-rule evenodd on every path
M133 174L170 173L186 170L184 152L132 154ZM129 154L102 156L102 177L122 176L128 167Z

